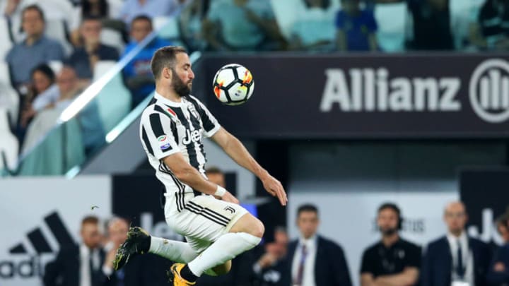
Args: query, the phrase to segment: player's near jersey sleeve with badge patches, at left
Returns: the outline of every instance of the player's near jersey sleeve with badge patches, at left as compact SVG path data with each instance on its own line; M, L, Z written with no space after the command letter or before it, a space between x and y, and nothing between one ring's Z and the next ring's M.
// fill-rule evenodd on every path
M176 133L175 123L164 114L154 112L141 119L141 140L148 152L158 160L180 152Z

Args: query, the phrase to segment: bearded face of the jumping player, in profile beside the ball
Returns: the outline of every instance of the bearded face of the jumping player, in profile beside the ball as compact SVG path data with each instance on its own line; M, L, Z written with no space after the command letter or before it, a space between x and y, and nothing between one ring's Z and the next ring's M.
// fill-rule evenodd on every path
M172 68L172 86L177 95L184 97L191 93L194 73L186 53L178 53L175 58L175 68Z

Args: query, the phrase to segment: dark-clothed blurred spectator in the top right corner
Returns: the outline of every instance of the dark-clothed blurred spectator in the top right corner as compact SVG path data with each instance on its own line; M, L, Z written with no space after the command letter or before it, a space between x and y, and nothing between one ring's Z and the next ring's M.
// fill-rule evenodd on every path
M509 49L509 2L486 0L472 16L470 42L480 49Z

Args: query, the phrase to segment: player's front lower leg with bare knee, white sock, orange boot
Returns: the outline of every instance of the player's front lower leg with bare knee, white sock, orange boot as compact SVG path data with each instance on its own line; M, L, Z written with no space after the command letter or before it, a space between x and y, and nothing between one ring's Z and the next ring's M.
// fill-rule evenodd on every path
M175 263L169 271L174 286L194 285L205 270L226 263L262 240L264 225L250 213L242 216L230 232L223 234L209 248L188 264Z

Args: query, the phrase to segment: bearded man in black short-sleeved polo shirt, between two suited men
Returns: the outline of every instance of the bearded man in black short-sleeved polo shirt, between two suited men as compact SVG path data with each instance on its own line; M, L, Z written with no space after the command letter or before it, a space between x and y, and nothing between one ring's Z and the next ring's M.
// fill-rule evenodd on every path
M382 239L364 251L361 285L416 285L421 268L421 247L399 237L401 211L394 203L378 208Z

